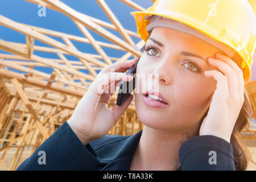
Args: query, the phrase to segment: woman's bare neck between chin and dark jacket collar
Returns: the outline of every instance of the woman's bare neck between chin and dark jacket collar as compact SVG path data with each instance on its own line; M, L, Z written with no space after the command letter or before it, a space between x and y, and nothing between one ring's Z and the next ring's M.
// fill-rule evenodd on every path
M179 148L193 133L195 131L163 131L144 126L130 170L176 170Z

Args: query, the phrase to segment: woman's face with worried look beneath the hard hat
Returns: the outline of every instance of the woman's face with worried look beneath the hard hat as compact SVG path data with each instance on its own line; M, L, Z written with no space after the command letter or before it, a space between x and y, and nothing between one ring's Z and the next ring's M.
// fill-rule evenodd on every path
M138 62L137 74L154 73L158 77L137 79L136 88L142 88L145 85L142 82L150 83L157 78L158 88L152 89L160 92L168 105L148 106L143 101L143 93L135 90L139 120L154 129L171 131L198 128L201 117L209 107L210 96L216 89L216 80L204 76L204 71L218 70L208 64L208 57L223 52L196 36L167 27L152 30L146 42L148 47Z

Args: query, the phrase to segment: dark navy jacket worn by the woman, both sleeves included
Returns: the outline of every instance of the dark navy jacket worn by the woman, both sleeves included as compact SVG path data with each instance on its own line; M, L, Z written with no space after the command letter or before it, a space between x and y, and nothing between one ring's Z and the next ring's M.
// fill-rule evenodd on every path
M130 136L105 135L84 146L64 122L16 170L129 170L142 131ZM45 152L46 164L39 164L39 151ZM186 140L179 159L181 170L235 170L232 145L213 135Z

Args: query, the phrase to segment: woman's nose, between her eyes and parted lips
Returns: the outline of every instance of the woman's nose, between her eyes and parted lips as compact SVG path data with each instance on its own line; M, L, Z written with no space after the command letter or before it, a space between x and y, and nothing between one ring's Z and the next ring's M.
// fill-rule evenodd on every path
M158 67L155 68L154 72L152 73L152 78L158 79L159 82L162 84L169 85L171 84L171 77L170 77L170 65L167 64L160 64Z

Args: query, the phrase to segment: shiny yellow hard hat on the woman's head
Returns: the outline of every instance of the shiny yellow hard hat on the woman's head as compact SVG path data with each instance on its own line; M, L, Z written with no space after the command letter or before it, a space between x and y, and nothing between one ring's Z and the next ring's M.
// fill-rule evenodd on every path
M253 0L254 2L256 0ZM251 79L251 64L256 48L256 16L245 0L156 0L146 11L134 11L137 34L146 42L151 16L162 16L203 32L225 44L243 71L245 84Z

